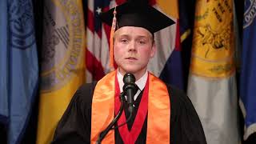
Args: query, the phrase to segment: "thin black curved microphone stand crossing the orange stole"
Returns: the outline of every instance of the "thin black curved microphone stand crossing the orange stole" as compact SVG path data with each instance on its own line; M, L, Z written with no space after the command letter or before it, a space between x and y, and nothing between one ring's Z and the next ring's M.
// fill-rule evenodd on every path
M120 101L121 101L121 106L118 110L118 114L114 117L114 119L112 120L112 122L110 122L109 126L106 127L105 130L103 130L99 135L98 135L98 140L96 141L96 144L101 144L102 139L105 138L106 134L111 130L111 128L114 126L114 123L118 121L118 119L120 118L121 114L122 114L122 110L123 110L123 103L125 101L125 96L123 93L120 94Z

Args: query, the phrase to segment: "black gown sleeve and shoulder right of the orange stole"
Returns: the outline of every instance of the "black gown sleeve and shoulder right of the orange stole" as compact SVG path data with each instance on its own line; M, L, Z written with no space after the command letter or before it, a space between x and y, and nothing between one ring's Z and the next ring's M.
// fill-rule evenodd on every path
M170 143L206 144L202 124L190 98L174 86L168 86L170 94Z

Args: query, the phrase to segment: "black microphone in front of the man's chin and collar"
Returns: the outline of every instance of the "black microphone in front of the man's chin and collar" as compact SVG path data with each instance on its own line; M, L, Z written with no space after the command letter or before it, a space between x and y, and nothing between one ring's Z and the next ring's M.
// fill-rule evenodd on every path
M134 95L137 92L134 74L126 73L122 81L124 82L122 90L127 97L128 111L132 114L134 110Z

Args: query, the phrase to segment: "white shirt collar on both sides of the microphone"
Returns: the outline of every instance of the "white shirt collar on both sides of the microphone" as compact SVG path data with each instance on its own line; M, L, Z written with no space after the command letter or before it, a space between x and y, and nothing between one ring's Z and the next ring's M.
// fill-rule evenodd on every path
M119 88L120 92L122 93L122 86L124 86L124 83L122 81L123 75L118 71L118 83L119 83ZM138 81L135 82L135 84L138 86L139 90L143 90L144 87L146 86L146 80L148 77L148 71L146 70L146 73L143 74L142 78L139 78Z

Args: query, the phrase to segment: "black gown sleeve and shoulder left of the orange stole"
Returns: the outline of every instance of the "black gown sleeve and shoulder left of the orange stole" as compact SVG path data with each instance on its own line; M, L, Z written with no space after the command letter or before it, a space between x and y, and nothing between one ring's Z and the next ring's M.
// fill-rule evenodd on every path
M90 115L92 96L97 82L79 87L54 133L53 144L90 143Z

